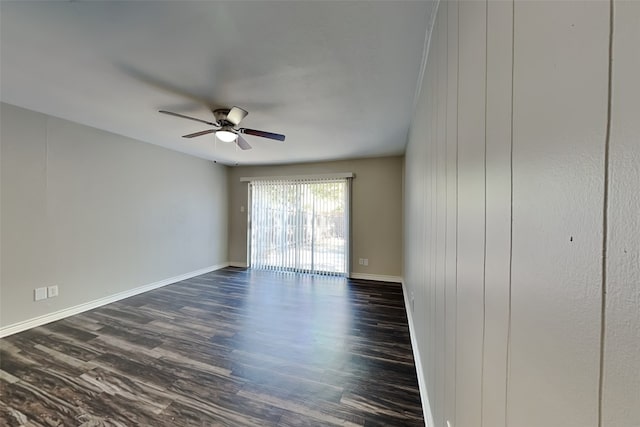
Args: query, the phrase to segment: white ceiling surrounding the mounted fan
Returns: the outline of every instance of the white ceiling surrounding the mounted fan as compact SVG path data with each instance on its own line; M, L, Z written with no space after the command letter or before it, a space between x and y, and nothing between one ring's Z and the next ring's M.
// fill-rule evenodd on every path
M0 1L0 99L225 164L400 154L432 1ZM183 139L249 111L253 150Z

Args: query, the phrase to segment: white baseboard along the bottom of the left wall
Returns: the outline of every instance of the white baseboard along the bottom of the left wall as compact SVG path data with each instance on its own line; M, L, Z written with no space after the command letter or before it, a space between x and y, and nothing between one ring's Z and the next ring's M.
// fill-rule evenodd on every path
M101 307L112 302L119 301L121 299L129 298L134 295L141 294L143 292L151 291L153 289L161 288L172 283L180 282L182 280L190 279L201 274L209 273L211 271L219 270L224 267L228 267L229 263L212 265L210 267L201 268L199 270L191 271L189 273L181 274L179 276L170 277L168 279L160 280L158 282L149 283L147 285L138 286L137 288L129 289L117 294L109 295L97 300L78 304L73 307L64 308L62 310L55 311L53 313L45 314L42 316L34 317L33 319L24 320L22 322L13 323L11 325L3 326L0 328L0 338L7 337L9 335L16 334L18 332L26 331L27 329L35 328L36 326L42 326L47 323L55 322L56 320L64 319L65 317L73 316L84 311L92 310L94 308Z

